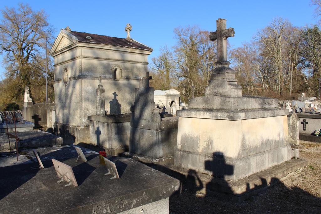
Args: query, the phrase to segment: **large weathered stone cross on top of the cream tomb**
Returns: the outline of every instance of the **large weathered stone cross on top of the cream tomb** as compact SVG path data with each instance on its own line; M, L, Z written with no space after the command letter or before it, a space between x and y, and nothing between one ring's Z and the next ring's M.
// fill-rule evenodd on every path
M216 31L210 33L210 40L217 40L217 62L227 61L227 38L234 37L234 28L226 29L226 20L216 20Z

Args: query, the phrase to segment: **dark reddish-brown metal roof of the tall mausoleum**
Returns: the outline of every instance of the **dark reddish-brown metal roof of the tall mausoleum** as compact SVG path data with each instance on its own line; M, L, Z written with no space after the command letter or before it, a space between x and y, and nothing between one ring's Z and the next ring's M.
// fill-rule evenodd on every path
M99 44L106 44L106 45L113 45L113 46L120 46L120 47L130 47L130 48L153 51L152 48L147 47L135 40L127 40L123 38L109 37L109 36L103 36L103 35L97 35L97 34L85 33L85 32L77 32L77 31L69 31L69 32L78 38L78 42L99 43ZM91 39L90 38L88 39L87 37L91 37Z

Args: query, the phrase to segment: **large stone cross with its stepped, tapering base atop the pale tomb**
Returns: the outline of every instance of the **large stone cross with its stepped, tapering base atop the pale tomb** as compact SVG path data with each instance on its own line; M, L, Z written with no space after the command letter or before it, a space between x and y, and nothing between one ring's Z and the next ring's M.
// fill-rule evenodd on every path
M227 38L234 37L234 29L226 29L226 20L216 20L216 31L210 32L210 40L217 41L217 62L216 67L211 71L205 95L222 95L228 97L241 97L242 88L237 84L235 71L227 61Z

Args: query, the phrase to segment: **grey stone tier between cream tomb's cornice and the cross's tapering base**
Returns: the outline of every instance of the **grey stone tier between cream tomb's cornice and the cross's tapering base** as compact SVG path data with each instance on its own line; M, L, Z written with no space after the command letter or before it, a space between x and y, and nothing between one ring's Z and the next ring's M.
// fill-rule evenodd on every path
M227 97L220 95L205 95L190 99L188 108L195 109L253 109L253 108L277 108L276 98L242 96Z

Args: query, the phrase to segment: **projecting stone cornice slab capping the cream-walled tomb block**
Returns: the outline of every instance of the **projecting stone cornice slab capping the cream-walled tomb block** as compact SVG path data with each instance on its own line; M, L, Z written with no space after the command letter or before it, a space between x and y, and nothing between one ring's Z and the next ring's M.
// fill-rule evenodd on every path
M193 117L218 120L247 120L262 117L274 117L288 115L288 109L282 108L260 108L244 110L223 109L183 109L177 111L179 117Z

